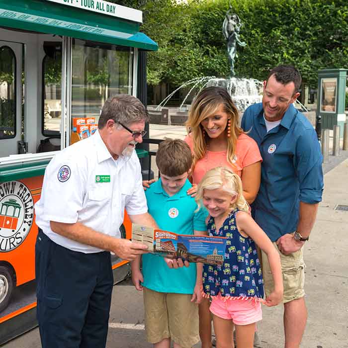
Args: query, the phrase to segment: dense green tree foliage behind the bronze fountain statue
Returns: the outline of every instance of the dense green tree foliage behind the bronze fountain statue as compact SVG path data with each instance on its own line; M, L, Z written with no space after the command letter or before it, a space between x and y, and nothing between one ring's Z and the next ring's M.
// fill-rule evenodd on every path
M222 23L230 4L244 25L236 75L263 80L293 64L317 86L318 70L348 68L347 0L124 0L144 12L142 31L158 42L148 55L148 82L179 85L200 76L226 77Z

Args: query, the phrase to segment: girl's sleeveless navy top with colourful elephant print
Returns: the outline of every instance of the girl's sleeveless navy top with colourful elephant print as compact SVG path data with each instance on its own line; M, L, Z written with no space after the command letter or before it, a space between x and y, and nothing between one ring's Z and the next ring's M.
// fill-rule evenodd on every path
M243 237L237 229L234 209L219 231L214 218L209 217L209 236L226 237L225 260L222 265L203 266L203 291L205 295L225 299L255 300L263 302L263 279L255 242Z

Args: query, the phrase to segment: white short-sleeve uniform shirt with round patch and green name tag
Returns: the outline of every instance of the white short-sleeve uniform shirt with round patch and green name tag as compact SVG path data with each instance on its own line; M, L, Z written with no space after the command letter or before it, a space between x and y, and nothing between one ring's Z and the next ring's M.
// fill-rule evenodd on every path
M80 222L95 231L120 238L124 209L130 215L148 211L136 152L114 160L99 132L58 153L48 164L36 224L55 243L73 251L102 250L63 237L50 221Z

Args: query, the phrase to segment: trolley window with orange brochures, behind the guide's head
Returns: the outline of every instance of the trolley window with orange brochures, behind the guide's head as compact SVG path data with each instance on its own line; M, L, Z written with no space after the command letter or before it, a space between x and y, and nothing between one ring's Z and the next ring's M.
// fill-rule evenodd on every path
M109 96L132 93L133 48L74 39L72 57L74 143L95 132Z

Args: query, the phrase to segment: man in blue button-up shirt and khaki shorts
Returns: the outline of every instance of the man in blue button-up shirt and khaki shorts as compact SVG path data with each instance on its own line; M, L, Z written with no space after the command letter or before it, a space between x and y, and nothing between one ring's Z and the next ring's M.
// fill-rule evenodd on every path
M313 126L292 103L301 75L292 66L272 69L263 82L262 103L244 113L242 128L259 145L261 186L252 205L256 222L279 250L284 282L285 348L298 348L307 321L304 301L303 245L322 198L320 145ZM265 293L271 274L262 255Z

